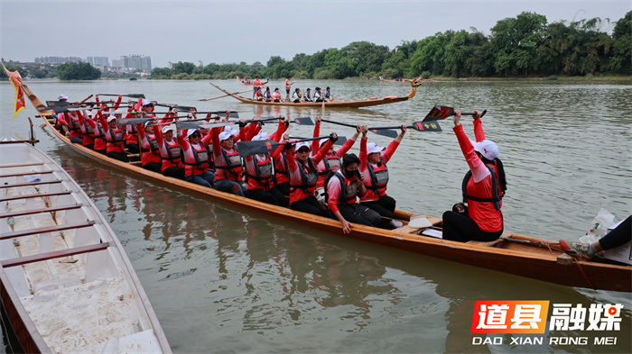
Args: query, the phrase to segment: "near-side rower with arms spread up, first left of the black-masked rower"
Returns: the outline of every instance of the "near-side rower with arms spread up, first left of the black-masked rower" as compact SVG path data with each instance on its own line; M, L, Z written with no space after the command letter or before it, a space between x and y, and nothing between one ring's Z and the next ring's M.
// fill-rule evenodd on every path
M289 135L285 135L285 141L289 141ZM330 216L322 208L314 191L318 182L318 164L325 158L327 151L338 140L336 133L331 133L330 138L316 155L310 158L310 143L298 142L295 152L291 144L285 144L285 155L290 171L290 208L303 213L311 213L320 216Z

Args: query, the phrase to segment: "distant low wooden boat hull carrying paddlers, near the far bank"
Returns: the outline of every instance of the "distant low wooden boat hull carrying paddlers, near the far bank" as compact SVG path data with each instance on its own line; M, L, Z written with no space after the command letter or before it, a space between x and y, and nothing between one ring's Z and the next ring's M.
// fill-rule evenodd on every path
M244 97L243 95L230 93L227 90L213 84L212 82L210 83L210 85L216 87L219 91L225 93L226 95L230 95L234 98L237 98L239 101L245 104L290 105L290 106L295 106L295 107L322 107L324 106L324 107L329 107L329 108L332 108L332 107L360 108L360 107L369 107L372 105L379 105L379 104L395 104L395 102L403 102L403 101L408 100L409 98L413 98L414 95L417 93L417 86L420 86L422 84L422 81L421 79L418 79L418 80L407 80L407 82L411 84L411 91L408 93L408 95L404 95L404 96L390 95L390 96L386 96L382 98L371 98L367 100L332 101L332 102L324 102L324 103L323 102L293 103L293 102L257 101L251 98Z

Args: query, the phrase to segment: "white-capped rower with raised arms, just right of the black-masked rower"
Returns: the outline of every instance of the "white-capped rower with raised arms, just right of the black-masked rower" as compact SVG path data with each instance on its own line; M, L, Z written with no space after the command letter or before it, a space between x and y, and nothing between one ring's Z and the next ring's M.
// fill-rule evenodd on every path
M364 175L364 185L367 187L367 194L360 197L360 204L375 210L383 216L379 226L382 228L402 227L402 222L394 218L395 199L386 195L386 184L388 184L388 168L386 163L393 157L395 150L404 139L406 125L402 124L401 132L397 137L384 148L377 146L375 142L367 143L367 131L362 132L360 140L360 173Z

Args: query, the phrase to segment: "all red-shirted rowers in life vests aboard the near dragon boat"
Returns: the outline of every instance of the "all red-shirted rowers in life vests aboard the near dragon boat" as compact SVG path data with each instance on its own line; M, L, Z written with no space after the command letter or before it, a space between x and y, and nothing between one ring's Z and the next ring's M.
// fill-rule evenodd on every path
M60 95L60 101L68 96ZM57 114L57 128L70 141L129 162L127 152L141 153L141 166L166 177L246 196L259 202L326 216L341 222L349 233L352 224L394 229L402 222L394 219L395 199L386 195L389 170L386 164L404 139L406 125L386 149L367 141L367 125L341 147L334 148L338 135L321 137L321 120L316 118L310 141L290 138L290 120L278 118L276 131L262 132L262 122L241 120L239 129L231 125L210 129L181 130L176 109L163 118L153 113L152 101L128 101L125 118L152 118L146 123L120 125L123 111L116 102L85 106L83 110ZM97 96L98 101L98 96ZM77 103L79 104L79 103ZM478 142L469 141L456 111L454 131L470 171L463 181L463 197L469 210L455 205L443 214L443 239L452 241L492 241L503 232L500 211L506 182L494 142L485 139L480 113L474 116ZM191 116L191 113L190 113ZM228 123L225 118L207 115L209 123ZM359 156L348 153L356 141ZM242 156L237 141L275 141L274 150ZM358 203L359 202L359 203Z

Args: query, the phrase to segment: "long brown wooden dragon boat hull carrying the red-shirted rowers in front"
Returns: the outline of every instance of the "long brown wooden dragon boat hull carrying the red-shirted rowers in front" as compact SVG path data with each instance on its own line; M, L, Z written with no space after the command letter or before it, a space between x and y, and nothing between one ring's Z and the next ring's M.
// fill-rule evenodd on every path
M42 102L24 87L35 107L43 107ZM117 168L137 177L152 179L157 183L185 190L192 194L202 195L226 204L233 204L246 210L255 211L274 218L310 226L314 229L344 235L340 223L326 217L296 212L288 208L257 202L253 199L218 192L180 179L164 177L144 168L139 162L125 163L89 150L79 144L70 143L69 139L58 132L50 115L41 113L44 123L61 141L67 143L72 150L94 159L110 168ZM613 265L598 262L586 262L571 259L560 250L557 242L525 236L513 232L505 232L501 239L493 242L469 241L460 243L445 241L422 234L425 231L408 225L414 213L395 211L395 218L404 222L404 226L395 230L384 230L375 227L354 225L351 233L345 236L363 241L375 242L389 247L408 250L426 256L447 259L462 264L488 268L520 277L529 277L562 286L591 287L595 289L632 291L632 266ZM441 227L441 219L426 216L433 227Z

